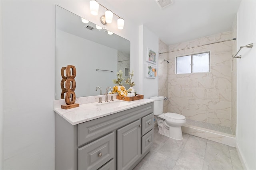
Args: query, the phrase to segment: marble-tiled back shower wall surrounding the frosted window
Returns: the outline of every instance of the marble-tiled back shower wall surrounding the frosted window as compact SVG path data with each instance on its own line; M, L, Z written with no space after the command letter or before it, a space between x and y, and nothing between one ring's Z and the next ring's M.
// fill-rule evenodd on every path
M231 38L232 31L227 31L193 41L170 45L168 51ZM176 56L207 51L210 51L210 72L175 74ZM168 96L170 98L168 111L182 114L187 119L230 127L232 41L204 45L168 54L170 61L168 64ZM159 63L161 65L161 58ZM159 71L160 68L159 66ZM164 88L163 84L166 83L164 80L159 76L159 88L161 90Z

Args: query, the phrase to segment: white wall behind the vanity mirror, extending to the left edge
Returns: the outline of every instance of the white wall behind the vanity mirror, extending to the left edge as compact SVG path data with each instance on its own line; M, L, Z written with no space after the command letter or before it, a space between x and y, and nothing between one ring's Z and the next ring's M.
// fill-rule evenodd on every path
M0 3L0 94L3 99L0 101L0 169L53 170L55 4L97 25L102 25L100 15L90 15L89 1L2 0ZM101 3L122 16L121 9L112 8L107 1ZM100 13L104 13L103 8L100 8ZM124 20L123 30L116 28L116 20L105 27L131 42L130 69L134 70L138 94L156 95L157 88L147 87L142 91L144 80L140 79L143 73L140 72L139 26ZM143 35L150 37L152 33L146 30ZM158 53L158 39L155 43L152 46L145 44L145 47ZM156 86L156 80L153 82Z

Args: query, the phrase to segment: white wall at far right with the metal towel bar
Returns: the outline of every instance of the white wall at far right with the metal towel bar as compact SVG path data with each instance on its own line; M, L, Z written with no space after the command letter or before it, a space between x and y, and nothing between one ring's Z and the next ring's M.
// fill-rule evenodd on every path
M238 10L237 49L237 146L246 168L256 169L256 1L242 0Z

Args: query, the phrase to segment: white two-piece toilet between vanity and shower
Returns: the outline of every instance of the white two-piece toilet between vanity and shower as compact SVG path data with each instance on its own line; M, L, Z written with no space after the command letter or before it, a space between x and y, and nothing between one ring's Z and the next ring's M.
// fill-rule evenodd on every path
M158 133L172 139L181 140L181 126L186 123L186 117L177 113L163 113L164 97L154 96L154 115L158 124Z

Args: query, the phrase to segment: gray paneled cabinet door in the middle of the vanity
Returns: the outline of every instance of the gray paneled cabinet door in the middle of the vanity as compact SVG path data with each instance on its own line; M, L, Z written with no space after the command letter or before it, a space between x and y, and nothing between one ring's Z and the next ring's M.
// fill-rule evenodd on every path
M117 169L127 170L141 156L140 119L117 130Z

